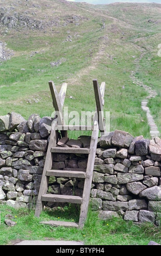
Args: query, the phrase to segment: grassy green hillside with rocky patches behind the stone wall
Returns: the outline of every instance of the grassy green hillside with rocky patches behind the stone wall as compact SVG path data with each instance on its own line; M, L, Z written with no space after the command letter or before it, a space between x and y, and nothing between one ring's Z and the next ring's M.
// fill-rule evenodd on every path
M148 106L159 128L160 4L5 0L2 8L1 41L14 56L0 65L1 115L11 111L24 118L32 113L51 115L49 80L58 90L67 82L69 111L93 111L92 79L97 78L100 84L106 82L104 111L110 111L110 130L150 137L140 107L147 93L130 77L135 59L144 51L136 76L158 93Z

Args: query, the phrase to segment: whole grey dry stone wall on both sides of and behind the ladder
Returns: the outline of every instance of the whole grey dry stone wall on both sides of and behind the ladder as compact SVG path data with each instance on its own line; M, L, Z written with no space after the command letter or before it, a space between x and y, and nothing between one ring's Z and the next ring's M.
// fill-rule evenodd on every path
M52 119L11 112L0 116L0 202L31 207L38 197ZM63 138L58 147L89 148L90 136ZM53 169L84 171L80 154L54 154ZM98 139L90 203L102 219L122 216L158 223L161 208L161 139L116 130ZM82 196L84 179L50 177L48 193ZM49 207L54 207L52 203Z

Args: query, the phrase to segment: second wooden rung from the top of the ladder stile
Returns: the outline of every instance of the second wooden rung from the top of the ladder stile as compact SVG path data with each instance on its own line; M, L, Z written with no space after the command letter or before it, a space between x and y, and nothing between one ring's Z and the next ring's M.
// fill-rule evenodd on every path
M73 154L90 154L90 149L87 148L51 148L52 153L73 153Z

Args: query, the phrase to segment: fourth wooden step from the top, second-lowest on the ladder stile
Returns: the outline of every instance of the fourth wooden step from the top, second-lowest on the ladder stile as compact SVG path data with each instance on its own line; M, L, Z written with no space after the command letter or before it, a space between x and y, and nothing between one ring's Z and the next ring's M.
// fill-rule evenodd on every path
M83 198L78 196L67 196L64 194L43 194L41 201L82 204Z

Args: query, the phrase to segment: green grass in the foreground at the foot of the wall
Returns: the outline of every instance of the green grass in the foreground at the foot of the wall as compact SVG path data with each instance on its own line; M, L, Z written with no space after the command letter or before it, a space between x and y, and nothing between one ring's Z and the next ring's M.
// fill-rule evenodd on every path
M7 214L11 214L17 223L14 227L4 223ZM147 245L151 240L158 243L161 241L160 227L153 223L136 225L131 221L123 221L121 217L102 221L97 212L91 210L83 229L40 224L40 221L51 218L78 221L78 209L70 205L55 211L46 210L40 218L36 218L33 210L15 210L1 205L0 245L11 245L20 240L45 239L83 241L84 245Z

